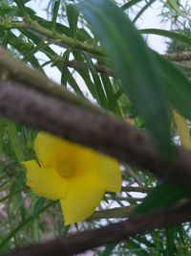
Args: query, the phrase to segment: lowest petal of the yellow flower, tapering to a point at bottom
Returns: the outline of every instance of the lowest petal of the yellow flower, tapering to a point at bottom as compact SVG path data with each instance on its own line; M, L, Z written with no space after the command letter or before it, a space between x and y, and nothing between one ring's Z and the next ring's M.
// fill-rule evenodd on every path
M90 217L105 193L104 185L94 176L75 177L69 182L67 197L60 200L65 224Z

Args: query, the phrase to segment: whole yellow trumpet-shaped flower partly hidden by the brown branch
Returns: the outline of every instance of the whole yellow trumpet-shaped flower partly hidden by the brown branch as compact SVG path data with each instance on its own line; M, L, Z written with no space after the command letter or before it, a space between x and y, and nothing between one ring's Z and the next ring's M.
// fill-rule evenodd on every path
M106 191L119 192L121 175L117 160L39 132L34 140L38 162L23 162L33 192L59 199L65 224L91 216Z

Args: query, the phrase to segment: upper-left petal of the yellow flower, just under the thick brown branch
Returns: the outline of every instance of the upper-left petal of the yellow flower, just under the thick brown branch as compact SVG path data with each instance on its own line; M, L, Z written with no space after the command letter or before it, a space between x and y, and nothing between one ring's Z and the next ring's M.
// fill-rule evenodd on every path
M42 167L55 167L57 162L65 160L78 165L87 150L50 133L40 131L34 140L34 151Z

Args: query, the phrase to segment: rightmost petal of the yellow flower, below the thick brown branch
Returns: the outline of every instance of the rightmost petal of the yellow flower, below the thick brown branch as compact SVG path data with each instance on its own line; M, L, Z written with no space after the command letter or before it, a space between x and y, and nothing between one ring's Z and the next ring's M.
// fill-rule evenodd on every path
M105 183L106 191L119 192L121 189L121 173L117 160L105 154L92 151L86 159L88 171L95 173Z

